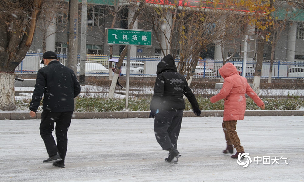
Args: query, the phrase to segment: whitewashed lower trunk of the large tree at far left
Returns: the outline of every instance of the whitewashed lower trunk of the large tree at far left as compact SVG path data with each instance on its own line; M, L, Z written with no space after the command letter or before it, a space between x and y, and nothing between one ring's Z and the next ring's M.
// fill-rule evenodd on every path
M14 73L0 72L0 110L16 110Z

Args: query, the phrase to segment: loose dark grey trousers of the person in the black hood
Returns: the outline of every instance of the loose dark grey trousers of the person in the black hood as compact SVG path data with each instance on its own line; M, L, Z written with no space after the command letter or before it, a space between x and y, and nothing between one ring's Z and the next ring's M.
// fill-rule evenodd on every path
M177 149L177 139L181 130L183 110L160 111L154 119L154 133L163 150Z

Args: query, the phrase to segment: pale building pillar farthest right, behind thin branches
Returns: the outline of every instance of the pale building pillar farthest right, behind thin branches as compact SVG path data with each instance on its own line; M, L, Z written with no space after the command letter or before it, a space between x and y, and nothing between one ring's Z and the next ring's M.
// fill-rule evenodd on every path
M295 61L295 40L297 35L297 23L292 22L289 25L288 35L287 35L287 51L286 51L286 61Z

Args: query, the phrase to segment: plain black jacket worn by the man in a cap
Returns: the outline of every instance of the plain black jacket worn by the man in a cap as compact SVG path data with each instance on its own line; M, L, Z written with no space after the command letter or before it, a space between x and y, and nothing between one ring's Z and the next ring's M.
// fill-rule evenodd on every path
M59 61L51 61L38 70L35 90L29 109L38 109L43 97L42 109L50 112L74 110L74 98L80 93L80 85L74 71Z

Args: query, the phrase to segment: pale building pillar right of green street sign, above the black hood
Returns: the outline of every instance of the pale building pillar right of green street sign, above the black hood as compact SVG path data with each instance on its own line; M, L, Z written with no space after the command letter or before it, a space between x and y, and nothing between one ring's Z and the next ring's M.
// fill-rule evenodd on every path
M172 25L172 12L167 11L166 12L166 19L163 20L163 25L161 26L161 30L163 31L163 34L161 34L161 47L164 49L165 55L170 53L170 45L169 45L169 39L171 35L171 28L170 25Z

